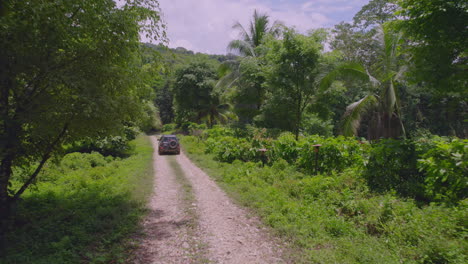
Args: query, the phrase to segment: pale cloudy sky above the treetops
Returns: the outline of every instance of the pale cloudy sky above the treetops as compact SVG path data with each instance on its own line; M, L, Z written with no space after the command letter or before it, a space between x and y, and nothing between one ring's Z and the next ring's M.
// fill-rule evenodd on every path
M255 9L271 21L305 33L312 28L333 27L353 16L369 0L159 0L167 25L169 47L195 52L226 54L229 41L239 34L232 25L247 27Z

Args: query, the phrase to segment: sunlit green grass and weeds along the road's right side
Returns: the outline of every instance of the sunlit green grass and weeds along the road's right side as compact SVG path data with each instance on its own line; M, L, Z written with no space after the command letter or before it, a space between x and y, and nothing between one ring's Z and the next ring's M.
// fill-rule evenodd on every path
M187 155L293 250L293 263L467 263L468 201L418 207L369 190L362 171L308 175L280 160L223 163L186 136ZM288 253L286 253L288 254Z

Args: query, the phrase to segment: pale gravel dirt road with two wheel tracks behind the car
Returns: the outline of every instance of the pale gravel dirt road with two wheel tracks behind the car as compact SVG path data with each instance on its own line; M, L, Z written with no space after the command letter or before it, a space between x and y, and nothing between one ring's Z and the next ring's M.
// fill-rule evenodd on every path
M134 263L284 263L258 219L233 204L184 153L155 152L154 166L151 213Z

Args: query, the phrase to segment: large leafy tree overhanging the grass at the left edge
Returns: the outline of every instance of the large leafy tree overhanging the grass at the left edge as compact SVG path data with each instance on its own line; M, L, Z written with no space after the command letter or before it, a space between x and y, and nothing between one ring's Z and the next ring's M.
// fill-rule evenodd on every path
M0 217L69 143L108 135L144 110L139 32L164 38L158 3L2 1ZM36 166L17 190L14 167Z

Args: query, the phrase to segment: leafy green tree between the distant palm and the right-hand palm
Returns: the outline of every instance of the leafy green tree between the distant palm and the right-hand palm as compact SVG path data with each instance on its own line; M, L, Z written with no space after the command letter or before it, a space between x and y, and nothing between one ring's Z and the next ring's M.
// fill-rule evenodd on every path
M267 84L271 87L271 102L283 101L280 106L288 113L286 119L290 129L299 137L303 113L312 103L316 92L315 82L318 77L318 65L323 48L323 34L314 32L309 36L287 29L281 40L270 39L266 44L267 65L265 75ZM275 99L277 98L277 99ZM265 113L264 115L268 115Z

